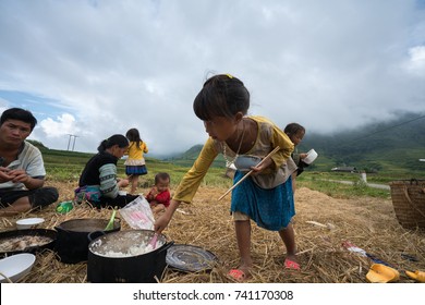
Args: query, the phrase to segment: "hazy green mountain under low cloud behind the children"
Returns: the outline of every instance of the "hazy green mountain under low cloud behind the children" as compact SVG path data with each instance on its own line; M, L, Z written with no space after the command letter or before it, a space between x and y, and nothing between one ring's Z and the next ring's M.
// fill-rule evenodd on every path
M167 161L192 166L203 145L195 145ZM299 151L314 148L319 157L308 168L330 171L335 167L350 166L368 172L404 171L425 175L425 114L403 113L397 120L377 122L361 129L331 135L306 133ZM223 167L221 155L214 162Z

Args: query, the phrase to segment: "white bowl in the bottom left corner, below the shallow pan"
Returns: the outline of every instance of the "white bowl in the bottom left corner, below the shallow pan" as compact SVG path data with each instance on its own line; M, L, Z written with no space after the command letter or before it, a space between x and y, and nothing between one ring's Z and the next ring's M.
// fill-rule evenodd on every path
M33 269L35 255L31 253L21 253L0 259L0 282L9 283L9 280L16 282L25 277ZM8 280L9 279L9 280Z

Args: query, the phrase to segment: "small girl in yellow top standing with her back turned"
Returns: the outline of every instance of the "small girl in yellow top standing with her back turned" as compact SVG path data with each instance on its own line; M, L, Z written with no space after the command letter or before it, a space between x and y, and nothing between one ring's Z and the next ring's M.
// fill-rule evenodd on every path
M125 174L129 176L131 185L130 194L134 194L137 190L138 176L147 174L143 152L147 154L148 149L136 129L129 130L125 136L130 141L129 149L125 151L125 155L129 155L129 158L124 162Z

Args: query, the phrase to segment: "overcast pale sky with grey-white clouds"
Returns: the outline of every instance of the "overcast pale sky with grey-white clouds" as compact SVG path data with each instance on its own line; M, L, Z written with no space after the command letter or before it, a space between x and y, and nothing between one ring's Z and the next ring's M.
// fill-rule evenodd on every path
M32 110L49 148L131 127L153 155L203 144L192 105L217 73L281 127L424 112L425 0L0 0L0 112Z

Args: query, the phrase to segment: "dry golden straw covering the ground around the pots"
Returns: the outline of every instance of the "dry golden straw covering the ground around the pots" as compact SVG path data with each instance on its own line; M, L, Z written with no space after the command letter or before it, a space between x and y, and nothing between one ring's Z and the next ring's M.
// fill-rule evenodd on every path
M73 196L73 183L49 183L59 188L60 202ZM147 190L142 190L147 192ZM204 247L219 258L211 271L183 273L166 269L162 282L205 283L232 282L226 277L239 265L233 223L229 213L230 196L218 202L224 188L201 187L192 205L182 204L163 232L178 244ZM109 219L111 210L78 206L66 215L54 211L54 205L15 218L1 218L0 229L14 230L14 221L23 217L44 217L48 229L74 218ZM390 199L339 199L323 193L300 188L295 194L296 216L293 224L301 271L286 270L286 249L277 232L252 225L254 268L250 282L276 283L361 283L373 264L367 257L341 246L350 241L400 270L400 282L413 282L404 270L425 270L425 232L403 229L397 221ZM122 230L129 230L121 222ZM417 261L405 259L402 254ZM32 272L20 282L86 282L86 263L62 264L52 251L37 254Z

